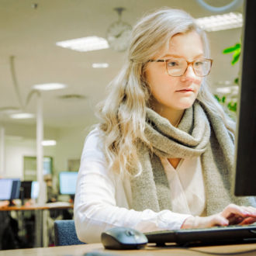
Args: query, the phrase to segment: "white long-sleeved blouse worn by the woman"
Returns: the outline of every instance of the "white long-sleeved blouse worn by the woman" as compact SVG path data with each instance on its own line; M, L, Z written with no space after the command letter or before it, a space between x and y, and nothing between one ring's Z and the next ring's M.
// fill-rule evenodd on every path
M180 229L186 218L203 215L205 192L200 158L180 161L174 169L161 159L171 188L173 211L158 213L131 209L128 177L108 171L98 129L85 140L74 199L74 223L78 238L85 243L100 242L102 232L111 227L132 227L141 232Z

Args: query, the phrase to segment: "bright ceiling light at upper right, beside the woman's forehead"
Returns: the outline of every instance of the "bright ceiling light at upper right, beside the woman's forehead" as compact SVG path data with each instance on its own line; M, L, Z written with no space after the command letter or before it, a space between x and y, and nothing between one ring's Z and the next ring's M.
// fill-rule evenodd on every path
M236 29L243 26L243 15L239 12L230 12L223 15L202 17L195 19L198 26L211 32L226 29Z

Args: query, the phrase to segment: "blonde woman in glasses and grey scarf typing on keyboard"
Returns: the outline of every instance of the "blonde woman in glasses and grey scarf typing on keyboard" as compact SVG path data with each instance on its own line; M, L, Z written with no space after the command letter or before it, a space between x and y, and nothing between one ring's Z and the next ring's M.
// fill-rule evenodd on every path
M74 203L80 240L99 242L110 227L256 220L253 199L232 195L234 123L207 88L211 64L206 35L186 12L161 9L134 27L85 141Z

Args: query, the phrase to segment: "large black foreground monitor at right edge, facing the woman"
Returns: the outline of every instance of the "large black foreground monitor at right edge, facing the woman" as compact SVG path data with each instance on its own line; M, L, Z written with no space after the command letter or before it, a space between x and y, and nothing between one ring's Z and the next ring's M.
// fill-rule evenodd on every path
M235 195L256 195L256 1L244 1Z

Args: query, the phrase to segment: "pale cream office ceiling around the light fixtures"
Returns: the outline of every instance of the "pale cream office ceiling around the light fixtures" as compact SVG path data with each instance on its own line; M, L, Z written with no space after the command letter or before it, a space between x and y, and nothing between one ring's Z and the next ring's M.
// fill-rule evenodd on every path
M216 6L226 0L206 1ZM38 6L32 7L34 3ZM122 19L133 25L145 12L170 6L185 9L195 18L213 15L196 0L0 0L0 110L19 108L10 71L15 56L16 78L23 104L34 84L61 82L64 90L43 92L45 126L81 126L95 122L94 107L105 94L106 85L122 65L124 53L111 49L79 53L57 47L55 43L84 36L106 37L106 30L118 18L113 10L124 7ZM242 8L237 11L242 12ZM238 66L221 52L240 40L241 29L209 33L214 59L211 81L233 80ZM92 63L108 62L109 68L94 69ZM61 95L85 95L85 100L61 100ZM36 95L26 112L36 113ZM0 123L35 124L35 119L17 120L0 111Z

